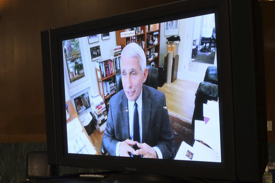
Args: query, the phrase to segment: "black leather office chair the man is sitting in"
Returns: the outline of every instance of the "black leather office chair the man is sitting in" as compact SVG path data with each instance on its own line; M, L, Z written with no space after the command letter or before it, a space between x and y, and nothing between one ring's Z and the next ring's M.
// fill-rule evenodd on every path
M152 65L146 65L146 67L148 68L148 76L144 84L147 86L151 86L155 89L158 89L158 69L156 67L152 67ZM119 92L120 90L123 89L120 69L118 69L115 73L115 82L116 82L117 92ZM101 142L101 154L102 155L107 154L107 151L105 150L102 142Z

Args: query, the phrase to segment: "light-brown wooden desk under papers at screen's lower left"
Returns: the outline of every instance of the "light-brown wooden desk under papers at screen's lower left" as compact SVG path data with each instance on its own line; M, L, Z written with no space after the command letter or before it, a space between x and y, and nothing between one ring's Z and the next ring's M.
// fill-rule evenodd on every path
M85 137L87 138L86 142L88 144L86 144L87 146L93 146L96 149L96 153L97 155L101 154L100 149L101 149L101 140L102 140L102 136L103 134L100 134L97 130L95 130L90 136L88 136L79 116L76 113L76 110L74 109L74 106L71 102L71 100L66 101L66 104L68 106L68 112L70 114L70 118L67 120L67 127L68 125L71 126L70 123L75 123L76 127L79 127L79 131L77 130L77 133L79 135L81 135L81 133L85 134ZM67 129L68 130L68 129ZM94 153L93 153L94 154Z

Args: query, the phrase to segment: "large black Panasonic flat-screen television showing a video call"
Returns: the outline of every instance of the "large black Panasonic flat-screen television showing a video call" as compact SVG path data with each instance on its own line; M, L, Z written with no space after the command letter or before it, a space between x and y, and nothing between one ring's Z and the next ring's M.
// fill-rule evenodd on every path
M260 182L260 19L257 1L192 0L42 31L48 162Z

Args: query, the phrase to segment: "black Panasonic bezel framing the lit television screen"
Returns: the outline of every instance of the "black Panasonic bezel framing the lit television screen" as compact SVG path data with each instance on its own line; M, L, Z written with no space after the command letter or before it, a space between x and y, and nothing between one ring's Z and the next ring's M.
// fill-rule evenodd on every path
M169 11L170 10L170 11ZM221 143L222 154L224 154L224 168L212 167L210 164L203 164L203 166L194 166L191 164L174 165L174 164L160 164L156 162L137 162L127 161L127 158L120 157L121 160L98 160L87 159L84 156L76 155L73 157L66 157L63 154L63 143L60 132L62 130L61 124L58 123L65 119L65 108L63 104L64 97L64 70L63 58L58 58L60 54L60 47L58 41L64 37L83 37L89 33L90 35L109 32L109 27L114 30L120 30L121 27L136 27L138 25L147 25L152 23L162 22L163 17L173 17L181 13L186 17L199 16L207 14L208 12L216 13L216 31L219 37L217 45L217 58L224 58L223 61L218 62L218 78L219 78L219 106L220 121L222 121L221 129ZM173 13L168 13L173 12ZM150 15L150 16L149 16ZM148 17L150 17L148 19ZM152 21L154 19L154 21ZM121 24L117 21L121 20ZM105 25L101 23L105 22ZM138 22L138 23L137 23ZM88 31L87 30L92 30ZM219 33L219 34L218 34ZM80 166L86 168L100 168L109 170L122 170L126 171L128 168L137 168L140 172L161 173L175 176L192 176L192 177L205 177L205 178L222 178L222 179L235 179L235 145L234 145L234 124L233 124L233 94L232 94L232 73L231 73L231 57L230 57L230 31L229 31L229 15L228 15L228 2L227 1L181 1L178 3L166 4L149 9L134 11L127 14L116 15L99 20L93 20L85 23L61 27L50 30L51 39L51 53L52 53L52 85L54 92L54 116L55 122L51 125L56 129L56 151L58 165L66 166ZM60 61L62 60L62 62ZM221 59L219 59L221 60ZM62 92L63 91L63 94ZM49 146L48 146L49 147ZM113 158L113 157L112 157ZM149 160L150 161L150 160ZM112 168L113 167L113 168ZM184 173L182 173L184 170ZM198 174L198 172L200 172Z

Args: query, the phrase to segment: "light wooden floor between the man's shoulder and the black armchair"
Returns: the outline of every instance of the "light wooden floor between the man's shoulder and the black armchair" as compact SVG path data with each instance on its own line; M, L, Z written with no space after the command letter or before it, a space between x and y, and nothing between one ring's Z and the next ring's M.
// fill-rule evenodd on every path
M176 79L174 83L165 83L158 90L164 92L168 112L192 122L195 108L195 93L198 83Z

